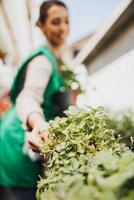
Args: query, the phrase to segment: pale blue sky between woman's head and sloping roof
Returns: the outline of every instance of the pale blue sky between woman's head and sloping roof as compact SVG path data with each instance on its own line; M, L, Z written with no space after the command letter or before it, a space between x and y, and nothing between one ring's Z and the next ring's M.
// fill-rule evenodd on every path
M87 36L101 28L114 14L123 0L62 0L70 12L68 43Z

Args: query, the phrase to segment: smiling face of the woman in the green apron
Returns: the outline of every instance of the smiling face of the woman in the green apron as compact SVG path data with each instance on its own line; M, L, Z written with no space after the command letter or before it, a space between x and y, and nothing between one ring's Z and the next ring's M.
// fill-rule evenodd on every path
M47 11L47 19L41 25L41 30L51 45L56 47L63 45L69 33L67 9L57 5L49 8Z

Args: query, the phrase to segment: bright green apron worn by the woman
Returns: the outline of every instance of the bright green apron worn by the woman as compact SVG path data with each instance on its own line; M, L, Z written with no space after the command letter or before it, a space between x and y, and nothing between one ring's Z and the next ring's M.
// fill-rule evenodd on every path
M0 184L4 186L35 187L41 174L41 164L33 162L23 154L25 131L17 116L15 100L23 89L25 72L28 63L38 55L47 57L52 66L52 74L44 91L44 102L41 105L46 121L58 115L59 107L54 104L53 96L63 86L63 77L57 71L53 53L46 46L36 49L20 66L11 88L12 108L5 113L0 123ZM28 105L27 105L28 106Z

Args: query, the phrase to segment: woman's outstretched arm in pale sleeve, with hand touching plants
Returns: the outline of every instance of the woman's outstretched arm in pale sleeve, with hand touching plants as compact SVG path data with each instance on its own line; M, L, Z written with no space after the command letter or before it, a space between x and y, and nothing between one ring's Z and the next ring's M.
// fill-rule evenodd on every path
M51 76L51 64L40 55L28 65L24 88L16 100L17 113L23 125L31 130L29 146L39 147L40 141L46 139L43 132L47 128L41 104L43 94Z

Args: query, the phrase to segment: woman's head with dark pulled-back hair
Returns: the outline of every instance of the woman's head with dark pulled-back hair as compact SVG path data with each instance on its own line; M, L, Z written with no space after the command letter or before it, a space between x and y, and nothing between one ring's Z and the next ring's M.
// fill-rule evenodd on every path
M52 46L57 48L64 44L69 33L69 16L67 7L63 6L63 3L52 5L53 1L49 5L42 4L37 25ZM44 14L48 8L47 14Z

